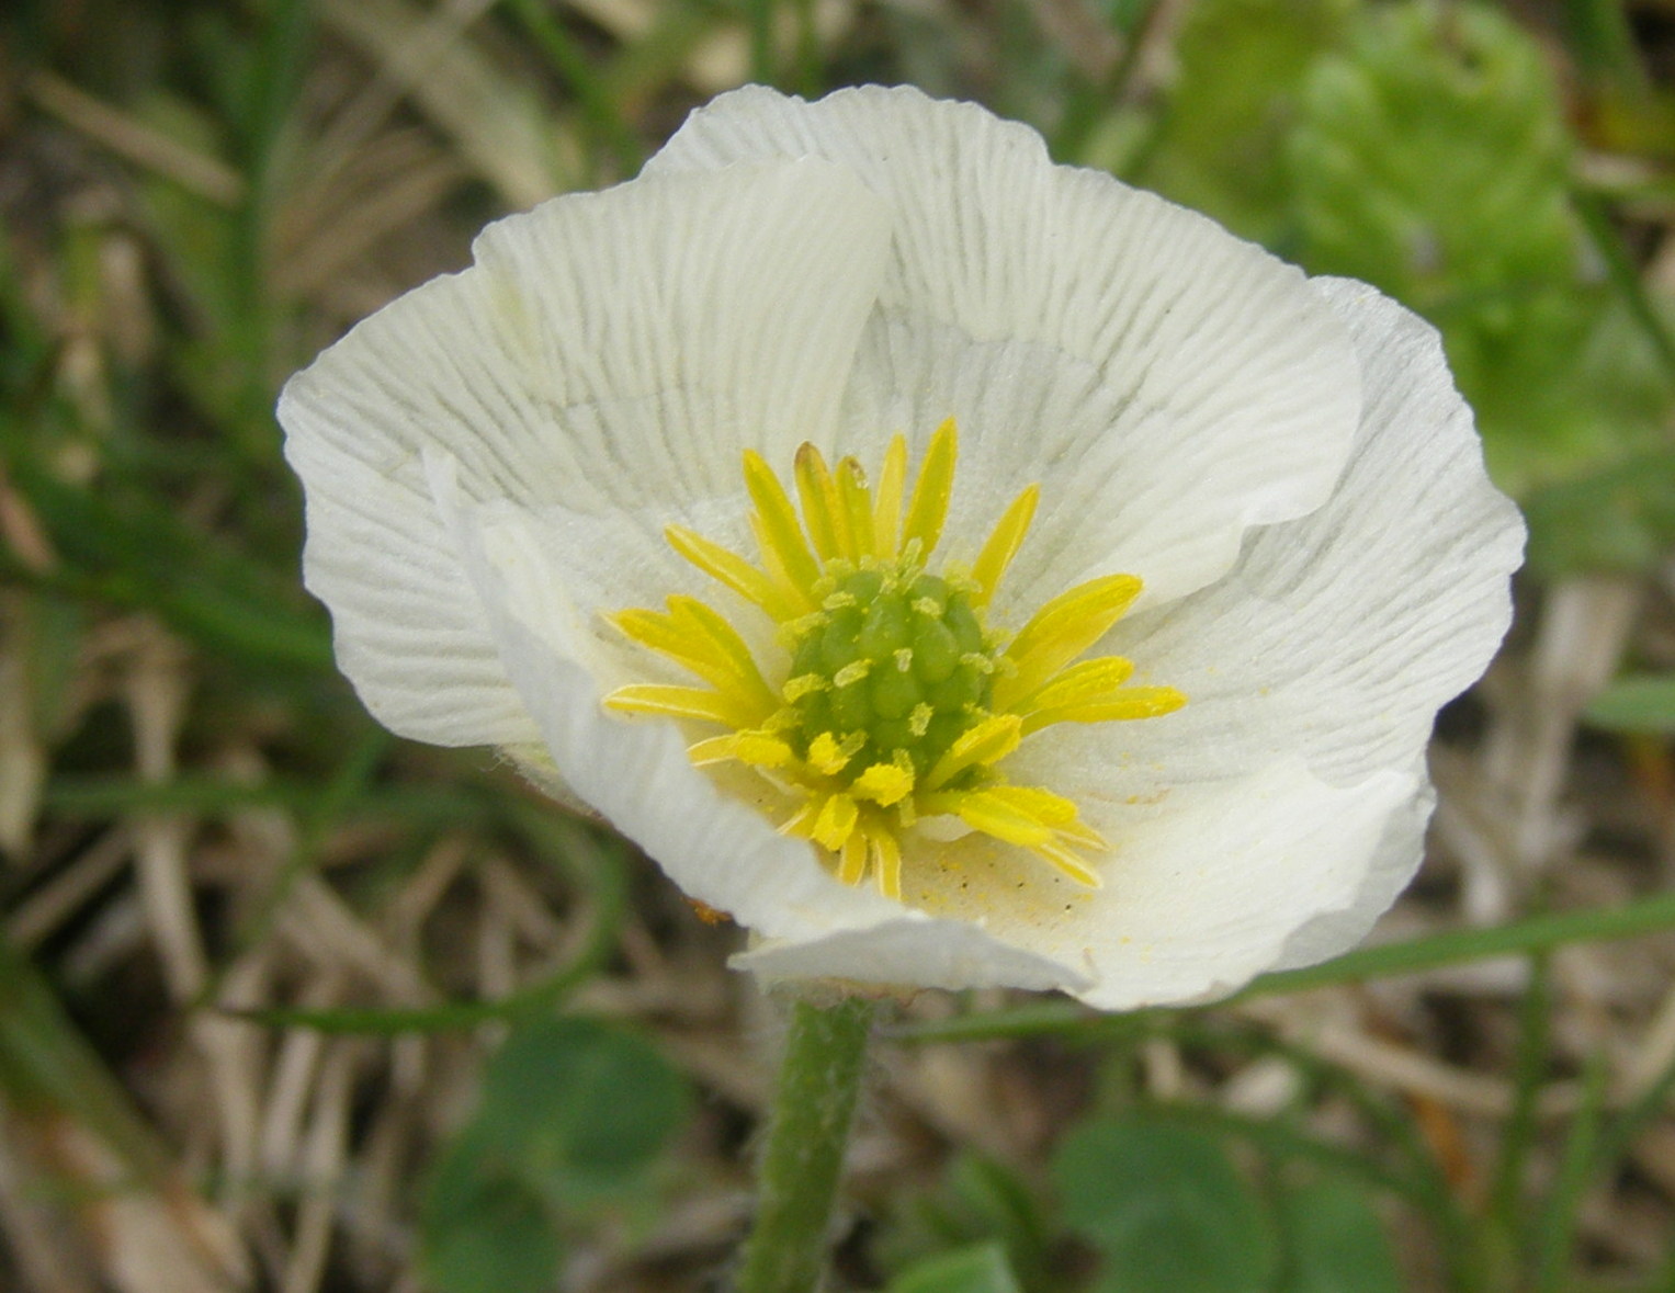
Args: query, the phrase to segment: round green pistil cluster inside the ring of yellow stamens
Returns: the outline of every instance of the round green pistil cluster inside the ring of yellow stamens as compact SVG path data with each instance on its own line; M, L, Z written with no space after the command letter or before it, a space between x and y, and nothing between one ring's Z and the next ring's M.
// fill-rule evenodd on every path
M997 652L970 590L918 563L831 561L814 591L821 610L786 626L797 757L824 762L827 735L849 774L906 760L923 777L988 712Z

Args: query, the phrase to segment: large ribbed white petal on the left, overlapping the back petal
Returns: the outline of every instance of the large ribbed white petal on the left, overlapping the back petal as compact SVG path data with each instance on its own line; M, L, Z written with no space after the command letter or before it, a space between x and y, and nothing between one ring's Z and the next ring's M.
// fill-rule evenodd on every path
M404 735L534 729L432 506L425 447L474 499L633 518L647 548L739 452L829 430L881 275L881 204L819 161L645 179L491 226L286 385L305 578L338 660ZM673 516L672 516L673 514Z

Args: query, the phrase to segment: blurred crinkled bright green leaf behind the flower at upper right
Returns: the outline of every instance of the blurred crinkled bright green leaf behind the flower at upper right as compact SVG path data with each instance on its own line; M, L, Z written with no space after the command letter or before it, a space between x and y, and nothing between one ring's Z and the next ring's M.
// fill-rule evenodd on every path
M1482 3L1368 8L1308 77L1286 166L1301 260L1424 313L1514 492L1657 440L1667 373L1571 201L1549 60Z

